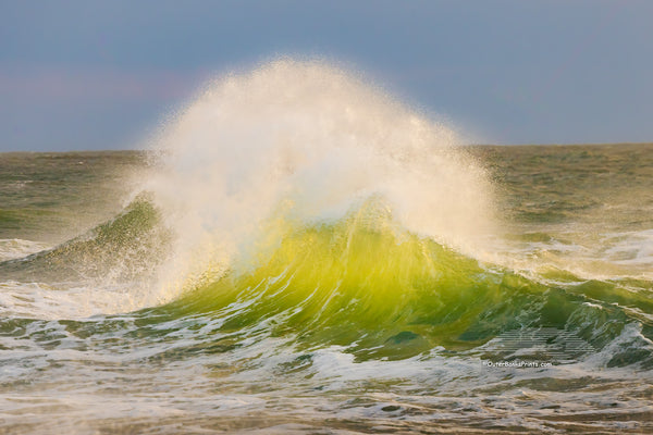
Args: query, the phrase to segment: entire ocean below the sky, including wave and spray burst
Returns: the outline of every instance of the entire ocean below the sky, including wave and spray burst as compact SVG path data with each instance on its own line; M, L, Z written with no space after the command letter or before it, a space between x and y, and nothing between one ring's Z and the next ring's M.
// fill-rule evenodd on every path
M653 432L653 145L459 144L284 60L0 154L0 433Z

